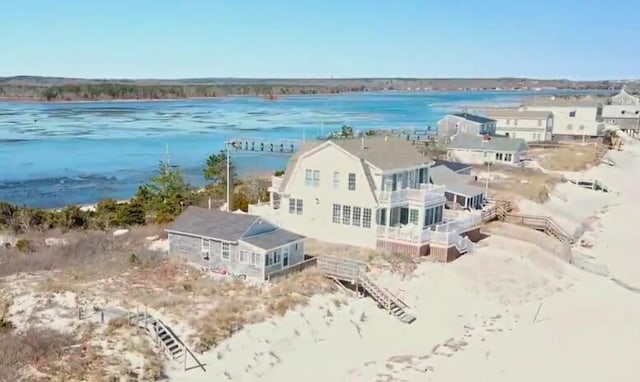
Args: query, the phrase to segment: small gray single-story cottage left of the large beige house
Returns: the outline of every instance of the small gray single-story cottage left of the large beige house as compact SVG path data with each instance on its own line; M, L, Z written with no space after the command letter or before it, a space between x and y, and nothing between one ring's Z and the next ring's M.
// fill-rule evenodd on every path
M166 231L170 256L254 280L304 260L304 236L259 216L190 206Z

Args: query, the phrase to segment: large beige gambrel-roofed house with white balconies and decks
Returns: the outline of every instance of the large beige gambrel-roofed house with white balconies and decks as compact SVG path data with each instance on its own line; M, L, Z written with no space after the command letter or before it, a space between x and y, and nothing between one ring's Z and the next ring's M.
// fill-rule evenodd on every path
M328 242L414 256L435 253L434 246L464 253L470 242L461 234L481 217L445 211L445 187L429 182L432 164L405 139L307 142L284 176L272 178L271 200L249 213Z

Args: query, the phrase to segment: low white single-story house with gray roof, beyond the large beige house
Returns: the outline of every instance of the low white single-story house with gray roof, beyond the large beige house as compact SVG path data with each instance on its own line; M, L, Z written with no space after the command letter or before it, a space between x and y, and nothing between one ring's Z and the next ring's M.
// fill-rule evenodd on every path
M447 145L449 159L465 163L501 163L517 166L527 152L524 139L458 134Z

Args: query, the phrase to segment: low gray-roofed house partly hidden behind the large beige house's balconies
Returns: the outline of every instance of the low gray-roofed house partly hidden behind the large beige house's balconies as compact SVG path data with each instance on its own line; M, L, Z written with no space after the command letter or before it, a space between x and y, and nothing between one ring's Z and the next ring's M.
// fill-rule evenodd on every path
M429 174L431 183L445 185L444 196L450 209L479 210L484 206L485 189L477 185L475 176L458 174L446 165L432 167Z

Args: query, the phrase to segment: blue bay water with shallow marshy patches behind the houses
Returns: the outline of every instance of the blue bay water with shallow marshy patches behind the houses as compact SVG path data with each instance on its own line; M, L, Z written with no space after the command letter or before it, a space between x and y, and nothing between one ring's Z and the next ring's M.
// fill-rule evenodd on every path
M517 104L525 92L360 93L208 100L0 103L0 200L53 208L126 199L171 164L202 185L207 156L231 138L314 138L355 129L425 129L464 105ZM536 93L539 94L539 93ZM282 156L238 155L241 173L273 171Z

